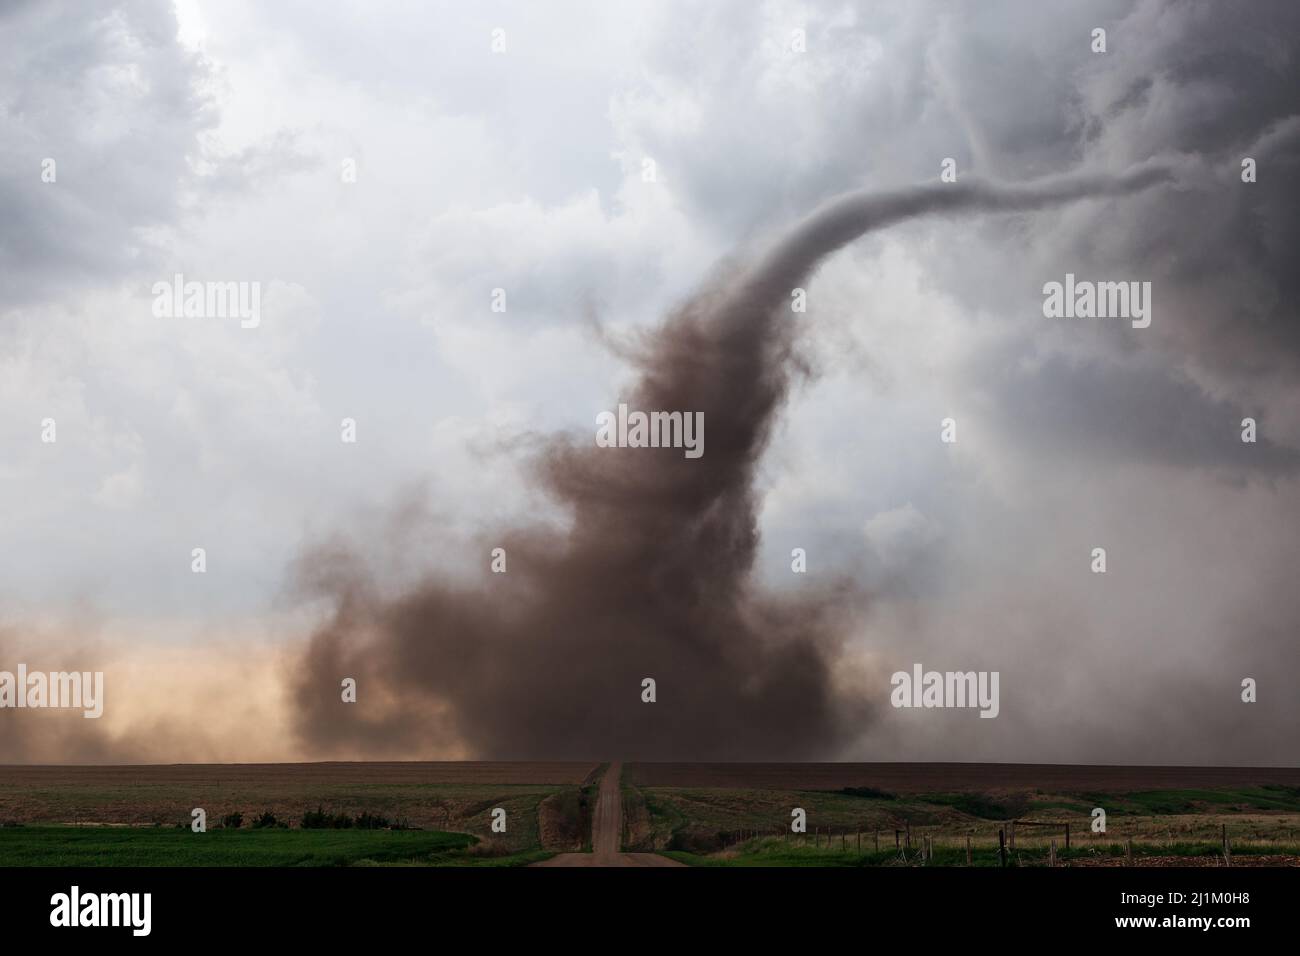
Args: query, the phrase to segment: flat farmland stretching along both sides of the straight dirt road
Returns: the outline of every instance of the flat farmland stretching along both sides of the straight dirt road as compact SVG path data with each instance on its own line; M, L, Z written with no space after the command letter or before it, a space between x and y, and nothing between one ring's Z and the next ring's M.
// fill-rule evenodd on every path
M581 865L607 766L0 767L0 865ZM1294 769L629 763L601 792L602 860L637 865L1300 864Z

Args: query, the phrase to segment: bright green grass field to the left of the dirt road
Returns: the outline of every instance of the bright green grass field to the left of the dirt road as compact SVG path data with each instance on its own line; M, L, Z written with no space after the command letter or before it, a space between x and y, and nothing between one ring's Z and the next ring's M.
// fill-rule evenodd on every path
M482 852L437 830L0 829L0 866L521 866L551 856Z

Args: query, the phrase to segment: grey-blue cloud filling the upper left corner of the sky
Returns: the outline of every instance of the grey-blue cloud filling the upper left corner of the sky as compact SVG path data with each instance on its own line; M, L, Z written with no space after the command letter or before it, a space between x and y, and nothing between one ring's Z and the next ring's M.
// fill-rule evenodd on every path
M212 116L162 0L0 10L0 307L157 261ZM42 182L53 159L57 182Z

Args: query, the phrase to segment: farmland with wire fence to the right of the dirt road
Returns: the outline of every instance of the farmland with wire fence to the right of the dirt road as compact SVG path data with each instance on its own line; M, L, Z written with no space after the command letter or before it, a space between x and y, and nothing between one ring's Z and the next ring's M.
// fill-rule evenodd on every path
M625 843L693 865L1300 862L1300 771L1018 765L654 765ZM792 834L792 810L806 834ZM1095 832L1093 810L1106 814ZM1014 825L1013 825L1014 821ZM1070 847L1066 848L1066 825Z

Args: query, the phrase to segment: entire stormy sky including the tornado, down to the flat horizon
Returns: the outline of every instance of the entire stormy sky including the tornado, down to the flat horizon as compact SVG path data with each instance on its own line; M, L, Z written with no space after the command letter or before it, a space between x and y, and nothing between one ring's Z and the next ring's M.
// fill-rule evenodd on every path
M1296 9L0 23L0 670L108 683L0 761L1300 760ZM1067 272L1152 326L1044 319ZM592 447L619 402L705 457ZM913 662L1001 714L890 709Z

